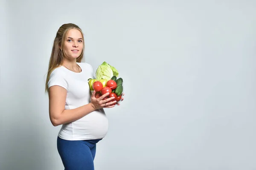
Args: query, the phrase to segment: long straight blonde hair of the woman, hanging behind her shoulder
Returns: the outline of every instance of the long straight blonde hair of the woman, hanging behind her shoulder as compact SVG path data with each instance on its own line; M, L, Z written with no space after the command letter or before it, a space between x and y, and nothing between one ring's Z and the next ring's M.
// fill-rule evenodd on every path
M58 68L62 64L64 57L67 57L67 54L65 52L64 43L67 38L67 32L70 29L79 30L81 32L82 38L84 40L83 32L82 32L81 28L79 28L79 26L77 26L76 24L73 24L73 23L63 24L58 29L56 37L53 42L53 46L52 46L52 54L51 54L51 57L49 60L49 67L48 67L47 78L46 78L46 83L45 83L45 92L46 93L49 93L48 82L49 82L49 77L50 77L52 71L55 68ZM77 57L76 62L81 62L84 57L84 41L82 41L82 42L83 42L83 50L81 52L81 55L79 57Z

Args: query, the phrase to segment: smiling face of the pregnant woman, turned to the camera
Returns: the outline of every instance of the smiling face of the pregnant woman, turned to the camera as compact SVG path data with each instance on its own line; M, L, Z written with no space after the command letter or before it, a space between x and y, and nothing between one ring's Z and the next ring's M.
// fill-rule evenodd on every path
M80 56L83 50L82 34L77 29L70 29L65 40L65 52L68 58L75 59Z

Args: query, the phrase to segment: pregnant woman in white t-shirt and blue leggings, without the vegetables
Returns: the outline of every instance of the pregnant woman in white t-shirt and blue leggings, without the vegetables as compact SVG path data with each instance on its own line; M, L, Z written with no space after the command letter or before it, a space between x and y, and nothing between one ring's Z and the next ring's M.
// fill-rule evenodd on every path
M81 29L72 23L62 25L52 47L45 90L52 125L62 125L57 149L65 170L94 170L96 143L108 132L103 108L116 103L111 101L114 97L103 100L108 93L97 99L95 91L90 95L88 79L94 78L93 68L81 62L83 55Z

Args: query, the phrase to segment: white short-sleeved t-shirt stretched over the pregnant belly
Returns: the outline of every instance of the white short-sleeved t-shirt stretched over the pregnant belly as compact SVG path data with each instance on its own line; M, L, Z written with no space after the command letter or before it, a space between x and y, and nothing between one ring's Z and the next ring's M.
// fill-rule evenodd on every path
M75 109L90 103L89 78L94 78L93 68L85 62L77 62L81 72L76 73L61 66L49 77L49 88L53 85L67 89L65 109ZM76 113L75 113L76 114ZM58 136L65 140L101 139L108 132L108 119L102 109L93 111L79 120L62 125Z

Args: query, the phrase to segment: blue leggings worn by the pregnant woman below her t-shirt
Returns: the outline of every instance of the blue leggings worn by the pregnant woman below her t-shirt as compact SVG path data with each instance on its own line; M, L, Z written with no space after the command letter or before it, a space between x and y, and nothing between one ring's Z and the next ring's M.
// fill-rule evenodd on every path
M57 138L57 149L65 170L94 170L96 143L101 139L68 141Z

